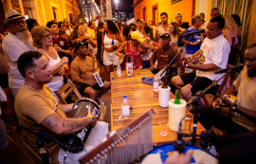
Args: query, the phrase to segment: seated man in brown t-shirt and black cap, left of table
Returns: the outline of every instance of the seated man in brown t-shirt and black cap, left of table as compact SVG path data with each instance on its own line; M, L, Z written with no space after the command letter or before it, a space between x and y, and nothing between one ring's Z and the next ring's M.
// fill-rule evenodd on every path
M78 42L75 45L75 53L78 56L70 66L72 81L76 84L82 96L87 95L90 99L98 100L101 105L104 105L101 96L109 91L110 82L102 81L104 85L100 87L95 80L93 75L94 63L92 58L89 57L88 43ZM95 89L99 89L101 92L97 95Z

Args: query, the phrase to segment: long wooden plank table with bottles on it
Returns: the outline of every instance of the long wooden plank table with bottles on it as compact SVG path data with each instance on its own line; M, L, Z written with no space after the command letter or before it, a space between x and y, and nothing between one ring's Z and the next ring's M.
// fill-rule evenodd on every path
M159 120L168 121L169 108L159 106L158 92L153 91L153 85L141 82L143 76L154 77L148 69L134 70L132 77L128 77L126 71L121 72L121 77L118 77L116 72L111 72L111 131L118 130L120 127L125 126L127 122L140 116L147 109L153 108L155 111L152 127L153 142L161 143L174 141L177 135L176 132L170 128L168 128L167 136L160 136ZM119 120L123 95L127 95L127 99L130 101L130 105L133 106L133 110L128 119ZM172 93L170 98L174 99ZM186 115L192 117L188 110ZM183 130L183 133L190 133L190 122L191 118L185 120L185 129ZM204 130L205 128L198 122L196 134L199 135Z

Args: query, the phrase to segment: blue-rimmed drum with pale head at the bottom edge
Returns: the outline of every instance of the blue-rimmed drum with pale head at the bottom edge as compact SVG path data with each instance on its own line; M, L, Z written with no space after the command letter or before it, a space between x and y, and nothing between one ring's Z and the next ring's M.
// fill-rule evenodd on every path
M211 155L206 150L198 148L194 145L186 144L184 154L189 150L193 150L192 161L191 163L204 162L208 164L218 164L218 159ZM174 152L174 144L165 144L159 147L156 147L153 151L145 155L142 159L141 164L162 164L171 156Z

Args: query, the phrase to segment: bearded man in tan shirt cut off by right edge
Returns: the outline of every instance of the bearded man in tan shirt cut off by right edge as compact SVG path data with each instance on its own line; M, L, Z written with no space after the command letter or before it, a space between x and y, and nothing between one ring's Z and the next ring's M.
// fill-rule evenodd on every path
M211 125L228 133L256 131L256 44L247 47L245 67L229 89L221 96L231 106L229 118L220 115L221 100L212 102L212 108L198 108L199 121L206 129ZM230 95L236 95L230 96Z

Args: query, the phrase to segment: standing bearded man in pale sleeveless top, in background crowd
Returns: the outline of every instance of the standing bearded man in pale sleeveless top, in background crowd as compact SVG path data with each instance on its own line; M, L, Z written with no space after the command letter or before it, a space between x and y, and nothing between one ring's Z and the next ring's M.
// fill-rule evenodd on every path
M161 25L155 30L155 42L157 42L165 33L169 33L168 14L166 12L160 13Z

